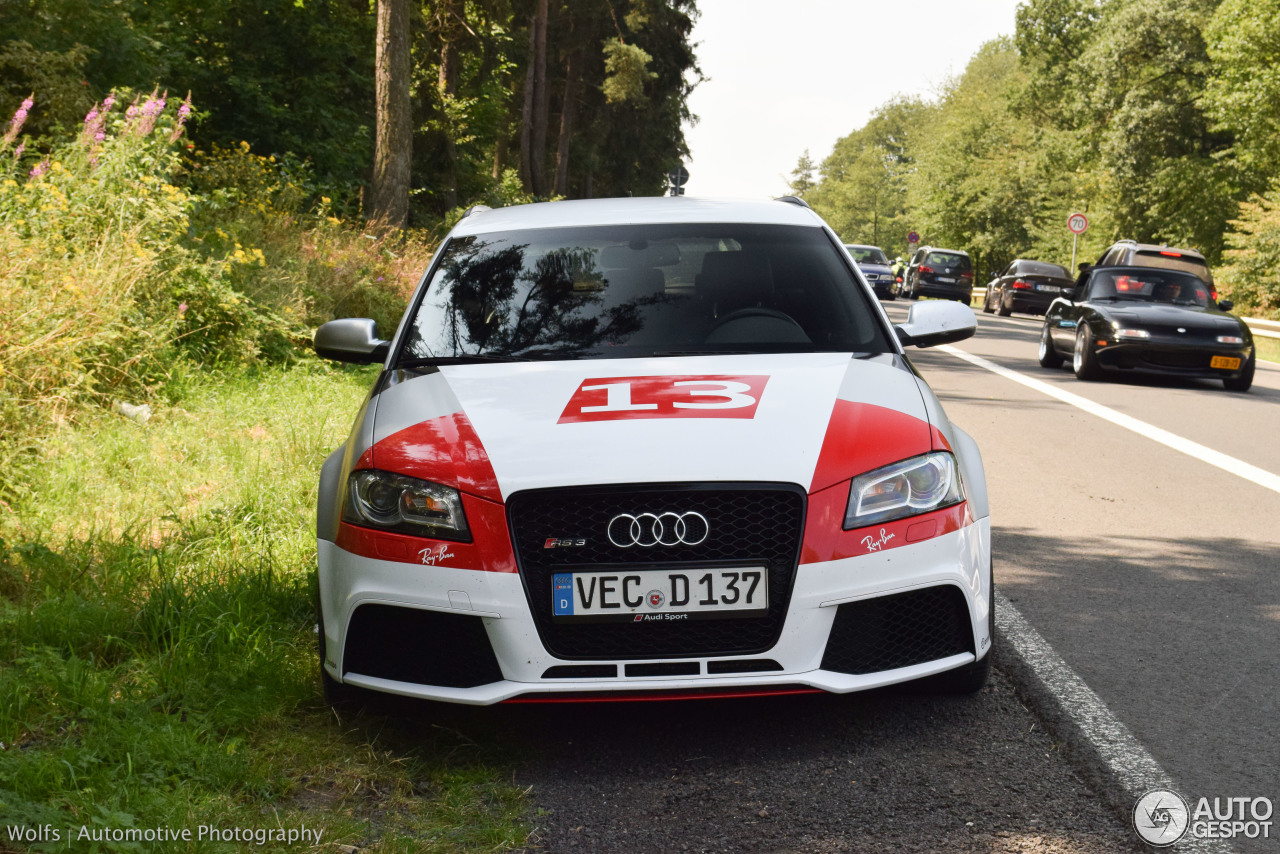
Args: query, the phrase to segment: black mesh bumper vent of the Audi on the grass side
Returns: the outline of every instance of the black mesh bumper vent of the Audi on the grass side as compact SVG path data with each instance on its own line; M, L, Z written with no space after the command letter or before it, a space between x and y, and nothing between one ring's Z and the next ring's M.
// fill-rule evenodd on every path
M480 617L388 604L356 608L347 626L342 670L444 688L502 681Z

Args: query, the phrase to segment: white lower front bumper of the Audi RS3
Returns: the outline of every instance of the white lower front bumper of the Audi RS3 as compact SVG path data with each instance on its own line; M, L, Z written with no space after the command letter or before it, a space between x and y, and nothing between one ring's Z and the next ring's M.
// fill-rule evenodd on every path
M911 543L886 552L859 557L801 563L795 575L790 604L782 632L772 648L750 656L754 663L744 667L768 667L760 672L723 672L742 657L695 656L663 657L654 661L567 661L547 652L530 611L521 579L515 572L416 566L381 561L347 552L328 540L319 540L321 631L329 650L324 662L330 676L352 685L430 700L466 704L492 704L515 698L603 695L618 691L708 691L718 690L787 690L808 686L832 693L847 693L920 679L965 666L982 658L991 649L988 616L991 603L991 524L980 519L957 531ZM918 594L923 600L931 592L952 598L960 609L965 649L936 645L947 654L872 672L844 672L847 661L828 654L836 635L849 644L847 634L837 626L841 607L858 608L855 603L872 603L888 597ZM899 599L904 600L904 599ZM458 625L470 626L480 643L492 649L492 659L448 672L476 673L474 679L451 679L452 685L428 684L407 679L388 679L387 672L416 672L412 667L384 670L383 675L360 672L348 667L344 654L348 631L357 609L390 607L415 612L434 612L457 617ZM847 620L845 621L847 622ZM481 631L483 630L483 631ZM644 630L637 627L637 630ZM899 626L897 635L932 631L932 625ZM887 630L886 630L887 631ZM451 635L461 638L461 635ZM858 638L867 636L863 630ZM874 641L874 638L872 638ZM461 641L460 641L461 643ZM950 652L948 652L950 650ZM856 650L855 650L856 652ZM378 670L379 656L393 661L429 659L458 654L458 644L415 644L402 639L394 648L362 652L355 658L365 670ZM481 656L480 658L484 658ZM468 659L470 661L470 659ZM764 662L764 663L760 663ZM468 670L470 668L470 670ZM486 670L488 668L488 670ZM595 668L595 670L593 670ZM609 670L612 668L612 670ZM658 675L628 675L654 672ZM675 672L678 671L678 672ZM599 676L613 672L613 676ZM571 673L570 677L563 677ZM666 673L666 675L664 675ZM481 684L470 684L484 680ZM639 695L637 695L639 697Z

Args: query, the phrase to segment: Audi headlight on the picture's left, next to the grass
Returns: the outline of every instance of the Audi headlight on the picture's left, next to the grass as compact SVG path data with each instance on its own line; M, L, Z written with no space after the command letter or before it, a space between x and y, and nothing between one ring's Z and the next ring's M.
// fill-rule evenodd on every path
M361 469L347 480L344 521L398 534L470 542L462 495L429 480Z

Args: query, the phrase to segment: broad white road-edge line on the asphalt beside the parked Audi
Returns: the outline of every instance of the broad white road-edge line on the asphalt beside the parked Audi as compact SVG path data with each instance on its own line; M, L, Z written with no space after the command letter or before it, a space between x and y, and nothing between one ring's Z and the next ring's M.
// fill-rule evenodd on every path
M1102 698L1084 684L1062 657L1053 652L1048 641L1019 613L1018 608L996 592L996 627L1012 644L1023 662L1032 668L1044 688L1061 703L1085 739L1093 745L1107 766L1107 771L1137 803L1152 789L1172 789L1172 778L1147 753L1124 723L1121 723ZM1185 795L1184 795L1185 796ZM1178 844L1179 851L1206 851L1217 854L1231 851L1221 840L1194 839L1189 832Z

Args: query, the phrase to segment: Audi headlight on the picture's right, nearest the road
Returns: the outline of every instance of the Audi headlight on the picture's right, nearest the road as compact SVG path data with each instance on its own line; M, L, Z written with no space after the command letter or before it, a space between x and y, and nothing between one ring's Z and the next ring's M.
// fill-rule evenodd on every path
M956 460L940 451L854 478L845 530L918 516L964 501Z

